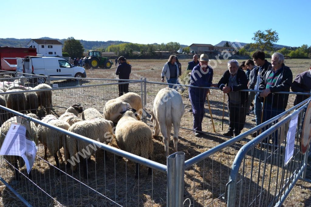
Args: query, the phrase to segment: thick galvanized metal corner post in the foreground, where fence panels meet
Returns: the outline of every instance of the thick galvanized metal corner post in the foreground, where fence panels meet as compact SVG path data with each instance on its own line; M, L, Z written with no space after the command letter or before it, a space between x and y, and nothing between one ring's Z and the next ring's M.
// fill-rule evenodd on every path
M185 153L176 152L167 156L167 207L183 206Z

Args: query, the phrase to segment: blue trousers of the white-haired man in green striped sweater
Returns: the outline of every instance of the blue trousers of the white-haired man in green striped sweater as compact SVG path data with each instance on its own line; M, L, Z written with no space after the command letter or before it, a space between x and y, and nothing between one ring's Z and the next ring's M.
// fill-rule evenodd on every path
M273 117L275 117L276 115L279 115L281 113L283 113L285 111L285 109L280 109L280 108L276 108L272 106L272 103L270 102L265 102L264 108L263 108L263 115L262 115L262 122L265 122ZM277 120L275 122L273 122L272 124L276 124ZM268 124L267 126L265 126L262 129L262 132L266 131L268 128L270 128L272 126L272 124ZM278 131L275 131L274 133L272 133L272 142L275 143L276 145L278 144ZM267 137L264 142L269 142L269 137Z

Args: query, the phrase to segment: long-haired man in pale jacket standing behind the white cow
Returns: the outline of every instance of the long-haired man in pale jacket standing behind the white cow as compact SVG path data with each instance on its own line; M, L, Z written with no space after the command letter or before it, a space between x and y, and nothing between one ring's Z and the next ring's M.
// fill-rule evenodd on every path
M178 65L176 63L176 57L174 55L169 56L168 61L164 64L161 72L161 80L164 82L164 76L166 77L167 83L177 84L177 79L179 76ZM173 88L169 85L169 88ZM178 87L174 87L177 89Z

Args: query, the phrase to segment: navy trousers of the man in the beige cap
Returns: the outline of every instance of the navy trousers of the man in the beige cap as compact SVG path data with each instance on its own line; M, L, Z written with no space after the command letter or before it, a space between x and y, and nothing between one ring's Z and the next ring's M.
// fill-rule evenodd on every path
M207 89L189 87L189 99L193 113L193 129L202 131L202 120L205 114L204 102Z

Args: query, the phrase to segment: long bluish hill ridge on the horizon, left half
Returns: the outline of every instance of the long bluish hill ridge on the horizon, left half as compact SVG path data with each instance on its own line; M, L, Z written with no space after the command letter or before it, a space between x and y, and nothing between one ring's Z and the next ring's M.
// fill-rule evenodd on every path
M38 39L55 39L49 37L42 37ZM29 43L31 39L16 39L16 38L0 38L0 46L9 46L9 47L27 47L27 43ZM64 43L66 39L56 39L59 40L61 43ZM79 40L83 47L86 50L96 49L96 48L106 48L109 45L117 45L121 43L129 43L123 41L87 41L87 40ZM157 45L158 43L153 43ZM180 47L188 47L187 45L180 45Z

